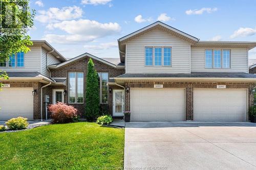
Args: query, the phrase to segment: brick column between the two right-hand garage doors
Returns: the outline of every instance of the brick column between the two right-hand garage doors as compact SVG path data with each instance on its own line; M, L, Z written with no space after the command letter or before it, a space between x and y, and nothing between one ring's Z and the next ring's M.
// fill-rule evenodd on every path
M193 84L186 85L186 120L193 120Z

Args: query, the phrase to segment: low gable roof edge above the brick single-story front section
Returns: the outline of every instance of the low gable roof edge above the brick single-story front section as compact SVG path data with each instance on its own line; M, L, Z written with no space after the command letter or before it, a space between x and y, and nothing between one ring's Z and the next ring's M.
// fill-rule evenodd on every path
M77 56L75 58L72 58L72 59L70 59L68 61L65 61L65 62L62 62L62 63L48 65L48 68L51 68L51 69L59 68L59 67L65 66L66 64L73 63L73 62L75 62L75 61L77 61L77 60L79 60L79 59L81 59L83 57L93 58L93 59L95 59L97 61L100 61L102 63L105 63L105 64L107 64L109 66L112 66L112 67L115 67L115 68L124 68L124 65L120 63L120 59L119 58L117 58L119 60L119 63L118 63L116 61L117 59L113 59L113 58L105 58L105 59L104 58L98 58L98 57L93 56L93 55L91 55L89 53L84 53L84 54L82 54L80 56ZM115 62L113 62L114 60L115 60Z

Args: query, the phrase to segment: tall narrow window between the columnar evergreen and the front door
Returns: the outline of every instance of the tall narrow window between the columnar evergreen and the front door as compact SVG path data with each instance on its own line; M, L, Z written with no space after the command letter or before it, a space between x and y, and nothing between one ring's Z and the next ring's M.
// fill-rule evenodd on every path
M99 95L100 95L100 103L108 103L109 99L109 90L108 90L108 82L109 82L109 73L108 72L99 72Z

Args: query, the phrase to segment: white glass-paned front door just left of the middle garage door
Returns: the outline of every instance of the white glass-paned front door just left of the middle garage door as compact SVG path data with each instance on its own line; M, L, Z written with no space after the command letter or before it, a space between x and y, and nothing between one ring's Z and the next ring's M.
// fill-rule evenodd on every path
M123 116L124 90L113 90L113 116Z

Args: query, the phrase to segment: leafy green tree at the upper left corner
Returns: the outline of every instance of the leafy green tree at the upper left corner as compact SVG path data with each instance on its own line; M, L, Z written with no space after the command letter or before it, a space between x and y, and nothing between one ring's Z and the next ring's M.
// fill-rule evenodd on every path
M30 11L29 0L0 0L0 61L18 52L30 51L28 30L33 27L35 10ZM0 79L8 79L0 70ZM2 84L0 83L0 88Z

